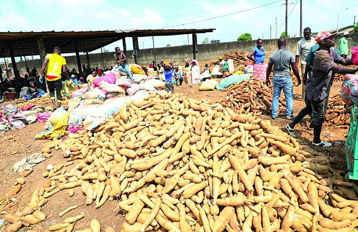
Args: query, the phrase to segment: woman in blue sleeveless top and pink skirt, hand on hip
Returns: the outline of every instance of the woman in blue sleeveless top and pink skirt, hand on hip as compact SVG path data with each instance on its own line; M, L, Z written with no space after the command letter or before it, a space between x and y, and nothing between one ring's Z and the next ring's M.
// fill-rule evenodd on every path
M254 62L253 77L266 81L265 49L262 47L262 40L256 40L256 46L247 55L249 60Z

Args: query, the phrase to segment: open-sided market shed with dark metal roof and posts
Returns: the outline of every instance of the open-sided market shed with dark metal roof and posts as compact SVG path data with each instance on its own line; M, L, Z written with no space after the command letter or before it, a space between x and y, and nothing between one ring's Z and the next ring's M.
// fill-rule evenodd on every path
M11 57L16 78L20 78L15 57L40 55L45 59L46 53L51 53L55 46L61 48L62 53L76 53L79 72L81 69L80 52L86 53L87 63L90 65L89 52L102 48L108 44L122 40L123 51L127 46L125 38L131 37L133 42L134 61L140 55L138 37L193 36L193 57L197 53L197 34L213 32L215 29L158 29L158 30L115 30L115 31L81 31L81 32L0 32L0 58ZM154 43L153 43L154 44ZM26 62L26 59L25 59Z

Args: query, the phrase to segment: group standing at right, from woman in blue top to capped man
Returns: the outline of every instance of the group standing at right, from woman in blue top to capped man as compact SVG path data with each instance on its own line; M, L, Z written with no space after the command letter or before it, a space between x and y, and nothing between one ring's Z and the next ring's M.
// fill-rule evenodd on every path
M261 39L256 41L256 47L247 56L254 62L253 76L255 78L262 79L266 84L269 84L269 77L273 71L272 119L278 117L279 97L281 90L283 90L286 98L286 118L292 120L291 123L286 125L287 132L295 137L295 125L306 115L310 115L310 128L313 128L314 137L312 144L319 147L330 147L332 145L322 141L320 134L334 74L353 74L358 71L358 69L347 69L337 65L351 65L352 60L347 59L348 45L346 38L349 37L349 33L343 33L343 37L339 41L339 50L334 48L334 36L336 34L323 31L313 38L311 37L311 29L305 28L303 38L297 42L296 56L286 49L286 39L280 38L277 41L278 50L271 54L267 69L265 50ZM298 63L300 63L301 75L299 74ZM293 115L291 69L297 78L298 85L302 83L302 99L306 104L296 117Z

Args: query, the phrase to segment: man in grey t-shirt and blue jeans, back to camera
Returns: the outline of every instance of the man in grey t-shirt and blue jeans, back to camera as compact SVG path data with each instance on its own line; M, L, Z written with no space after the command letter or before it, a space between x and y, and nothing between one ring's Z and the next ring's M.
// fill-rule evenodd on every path
M299 71L296 66L293 53L286 49L286 39L280 38L277 41L278 51L272 53L266 71L266 84L269 84L269 76L273 67L273 99L272 99L272 119L278 117L278 100L280 98L281 89L286 98L286 118L294 119L293 116L293 83L291 77L291 67L293 73L297 77L298 85L301 84Z

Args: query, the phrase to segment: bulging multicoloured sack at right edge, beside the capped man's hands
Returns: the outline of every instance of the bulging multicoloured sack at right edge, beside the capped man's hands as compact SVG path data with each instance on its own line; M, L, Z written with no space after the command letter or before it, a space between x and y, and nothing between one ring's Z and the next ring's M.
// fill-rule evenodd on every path
M344 103L358 105L358 75L345 75L340 96Z

